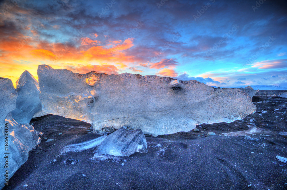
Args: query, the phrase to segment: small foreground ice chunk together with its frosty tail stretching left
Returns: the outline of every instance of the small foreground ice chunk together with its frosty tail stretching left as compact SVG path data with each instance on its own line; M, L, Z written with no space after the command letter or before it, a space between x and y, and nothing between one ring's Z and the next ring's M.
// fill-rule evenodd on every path
M129 156L135 152L148 152L144 133L140 129L132 131L123 127L108 136L101 136L90 141L65 146L59 152L61 154L81 152L90 148L96 148L98 154L113 156Z

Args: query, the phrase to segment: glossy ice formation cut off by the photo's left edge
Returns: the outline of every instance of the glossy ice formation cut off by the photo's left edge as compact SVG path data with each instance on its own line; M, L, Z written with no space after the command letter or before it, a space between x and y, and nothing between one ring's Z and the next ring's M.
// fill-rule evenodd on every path
M37 136L40 133L35 131L33 126L19 125L13 120L10 112L16 108L17 96L18 92L15 91L12 81L0 78L0 140L5 143L0 149L3 158L0 160L0 164L3 166L3 169L0 170L0 189L7 182L5 180L10 179L15 171L27 161L28 152L41 140ZM8 161L8 165L6 161ZM4 168L5 164L9 168Z

